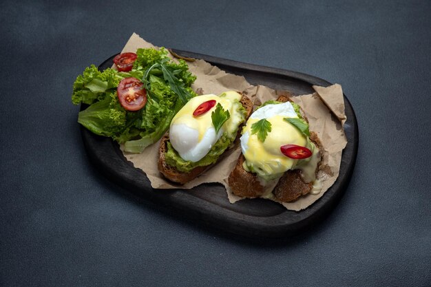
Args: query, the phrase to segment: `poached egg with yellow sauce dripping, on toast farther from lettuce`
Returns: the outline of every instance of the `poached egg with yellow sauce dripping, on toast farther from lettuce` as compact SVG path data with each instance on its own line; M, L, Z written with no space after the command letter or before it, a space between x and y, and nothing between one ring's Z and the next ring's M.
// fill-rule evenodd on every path
M271 123L271 131L268 132L264 142L257 138L257 134L252 133L251 128L254 123L263 118ZM284 118L299 118L291 103L264 105L251 114L242 130L240 140L245 158L244 169L257 173L262 185L277 180L289 169L302 169L302 178L305 182L315 180L319 150L309 138ZM289 158L280 150L283 145L307 147L313 155L303 160Z

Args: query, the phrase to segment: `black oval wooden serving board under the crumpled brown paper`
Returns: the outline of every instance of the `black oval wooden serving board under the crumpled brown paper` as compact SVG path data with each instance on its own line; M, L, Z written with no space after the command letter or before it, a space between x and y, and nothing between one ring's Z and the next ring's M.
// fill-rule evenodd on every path
M313 93L312 85L331 85L321 78L298 72L193 52L172 51L180 56L203 59L226 72L244 76L252 85L287 90L294 95ZM114 56L103 62L99 69L111 67ZM174 211L188 220L244 237L288 237L306 231L320 222L336 206L348 187L355 167L359 134L355 112L345 95L344 103L347 116L344 131L348 143L341 158L339 178L322 198L298 212L288 211L281 204L262 199L240 200L231 204L221 184L202 184L191 190L152 189L145 173L125 159L116 142L110 138L96 136L82 126L81 132L87 154L99 171L121 187L155 202L160 207L167 207L170 213Z

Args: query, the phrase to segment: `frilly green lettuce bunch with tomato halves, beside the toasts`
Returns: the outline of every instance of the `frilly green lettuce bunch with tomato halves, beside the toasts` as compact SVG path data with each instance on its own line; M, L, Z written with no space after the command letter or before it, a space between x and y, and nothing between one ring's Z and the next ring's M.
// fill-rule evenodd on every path
M140 153L157 142L172 118L196 96L191 84L196 80L187 63L172 61L165 48L138 49L129 72L112 68L99 71L87 67L73 85L72 103L88 105L78 114L78 123L101 136L125 144L125 151ZM147 89L147 104L139 111L127 111L118 102L116 88L123 78L134 77Z

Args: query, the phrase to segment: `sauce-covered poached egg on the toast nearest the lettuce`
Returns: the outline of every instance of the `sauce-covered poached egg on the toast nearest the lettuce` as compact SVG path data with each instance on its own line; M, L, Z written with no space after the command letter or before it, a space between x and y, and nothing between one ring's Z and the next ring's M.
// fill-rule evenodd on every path
M211 147L217 142L224 132L231 133L238 128L242 117L238 116L236 105L240 105L241 95L237 92L225 92L220 96L207 94L191 98L189 102L178 111L171 121L169 139L172 147L183 160L197 162L207 155ZM193 111L208 100L217 103L204 114L193 116ZM224 110L229 111L231 117L215 134L211 113L220 103Z

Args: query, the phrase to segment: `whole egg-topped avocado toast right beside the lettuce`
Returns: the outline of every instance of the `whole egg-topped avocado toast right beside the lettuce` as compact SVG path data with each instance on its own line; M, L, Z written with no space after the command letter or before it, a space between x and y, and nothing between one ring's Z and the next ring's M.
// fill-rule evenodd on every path
M191 98L160 140L160 173L179 184L198 177L233 145L252 109L247 96L233 91Z

